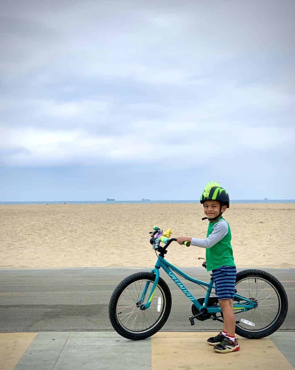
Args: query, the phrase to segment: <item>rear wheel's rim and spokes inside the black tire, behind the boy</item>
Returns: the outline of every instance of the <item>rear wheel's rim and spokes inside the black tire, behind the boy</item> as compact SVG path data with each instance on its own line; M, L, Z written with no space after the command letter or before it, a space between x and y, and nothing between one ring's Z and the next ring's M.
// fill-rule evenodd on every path
M281 312L281 298L276 287L260 276L247 276L235 285L237 294L255 300L257 308L235 314L237 326L251 332L268 329ZM234 302L235 303L235 302Z

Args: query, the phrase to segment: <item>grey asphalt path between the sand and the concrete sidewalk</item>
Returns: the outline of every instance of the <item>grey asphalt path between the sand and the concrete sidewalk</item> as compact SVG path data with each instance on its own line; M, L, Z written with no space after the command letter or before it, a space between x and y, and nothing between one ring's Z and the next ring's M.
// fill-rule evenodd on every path
M108 303L124 277L151 268L80 268L0 270L0 332L41 332L73 330L113 330ZM184 268L184 272L209 281L204 268ZM295 330L295 269L267 269L284 285L289 310L281 330ZM165 331L219 330L220 323L195 320L191 326L191 302L165 274L172 293L172 310ZM197 297L205 290L185 281Z

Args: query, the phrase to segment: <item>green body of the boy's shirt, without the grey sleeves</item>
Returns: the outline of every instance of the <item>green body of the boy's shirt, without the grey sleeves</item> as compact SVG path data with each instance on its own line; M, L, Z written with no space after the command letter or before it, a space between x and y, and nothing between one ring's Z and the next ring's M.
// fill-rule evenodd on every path
M214 226L221 220L227 223L228 233L211 248L206 248L207 271L217 269L220 266L235 266L231 246L231 229L228 222L223 217L219 218L217 221L209 222L207 238L211 234Z

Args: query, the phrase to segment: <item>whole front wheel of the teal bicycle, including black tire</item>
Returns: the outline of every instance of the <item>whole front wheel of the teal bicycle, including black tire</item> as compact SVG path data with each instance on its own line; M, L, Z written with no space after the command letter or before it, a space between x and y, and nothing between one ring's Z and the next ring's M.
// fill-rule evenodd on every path
M170 289L161 277L150 307L141 310L141 305L147 303L154 281L153 273L138 272L126 277L114 290L108 313L113 328L121 336L145 339L157 333L167 321L172 300Z

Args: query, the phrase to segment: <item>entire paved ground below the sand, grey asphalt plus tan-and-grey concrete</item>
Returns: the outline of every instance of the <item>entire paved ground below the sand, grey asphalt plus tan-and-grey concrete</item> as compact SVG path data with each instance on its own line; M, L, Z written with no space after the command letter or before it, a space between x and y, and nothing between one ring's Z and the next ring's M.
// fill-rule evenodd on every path
M241 350L229 354L215 353L206 343L220 323L195 320L190 326L191 303L168 277L173 303L163 330L142 341L114 332L111 293L138 270L150 268L0 270L0 370L295 369L295 269L267 269L288 294L281 330L260 340L241 338ZM209 280L204 269L183 270ZM185 283L204 296L200 287Z

